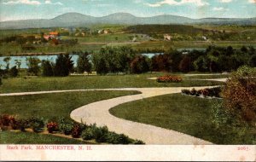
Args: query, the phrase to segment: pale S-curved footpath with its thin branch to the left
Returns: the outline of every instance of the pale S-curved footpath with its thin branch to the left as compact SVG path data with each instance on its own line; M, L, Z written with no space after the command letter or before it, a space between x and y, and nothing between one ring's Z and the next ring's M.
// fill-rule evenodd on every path
M95 89L95 90L137 90L142 92L138 95L125 95L113 99L96 101L79 107L70 114L70 117L77 122L83 122L86 124L107 125L108 129L115 131L116 133L124 133L133 139L139 139L146 144L195 144L206 145L212 144L189 136L175 130L167 130L154 125L142 124L137 122L128 121L125 119L119 119L109 113L109 109L119 104L143 100L144 98L153 97L157 95L166 95L180 93L182 89L195 88L201 90L207 87L173 87L173 88L124 88L124 89ZM38 91L38 92L20 92L0 94L0 96L7 95L36 95L36 94L49 94L49 93L61 93L61 92L76 92L76 91L92 91L92 90L53 90L53 91Z

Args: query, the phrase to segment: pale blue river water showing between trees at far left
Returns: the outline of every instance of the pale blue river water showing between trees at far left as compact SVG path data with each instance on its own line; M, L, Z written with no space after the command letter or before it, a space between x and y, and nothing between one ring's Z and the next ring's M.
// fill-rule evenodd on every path
M74 63L74 67L77 66L77 60L79 58L79 55L70 55L72 56L72 61ZM4 69L6 67L6 63L3 61L3 59L6 56L0 57L0 65L2 65L2 69ZM11 60L9 61L9 68L11 67L15 67L15 60L19 60L21 62L20 68L27 68L26 66L26 58L31 57L31 56L10 56ZM53 61L55 62L57 55L32 55L32 57L36 57L38 58L40 61Z

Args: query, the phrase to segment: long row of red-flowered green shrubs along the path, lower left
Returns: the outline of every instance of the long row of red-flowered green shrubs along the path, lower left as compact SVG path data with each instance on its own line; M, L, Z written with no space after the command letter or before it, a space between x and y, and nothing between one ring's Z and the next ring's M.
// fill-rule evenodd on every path
M16 119L12 115L0 115L0 130L21 130L31 128L34 132L39 133L47 128L49 133L63 133L71 135L73 138L82 138L84 141L95 139L96 142L107 142L112 144L145 144L139 140L133 140L124 134L117 134L109 131L107 126L98 127L96 124L80 124L71 119L61 118L58 121L50 121L44 125L43 119L29 118Z

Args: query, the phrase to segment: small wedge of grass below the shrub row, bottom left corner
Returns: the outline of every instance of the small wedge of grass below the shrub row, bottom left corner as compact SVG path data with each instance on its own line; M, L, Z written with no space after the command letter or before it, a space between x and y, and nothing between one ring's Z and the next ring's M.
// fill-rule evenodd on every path
M14 131L1 131L0 139L1 144L91 144L60 136Z

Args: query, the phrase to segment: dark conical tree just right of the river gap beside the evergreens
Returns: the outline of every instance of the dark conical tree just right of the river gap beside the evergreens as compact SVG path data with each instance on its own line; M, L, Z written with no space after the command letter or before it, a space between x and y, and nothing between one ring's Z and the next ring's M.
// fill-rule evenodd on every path
M85 52L82 55L79 55L78 59L78 72L91 72L91 63L90 63L90 54L88 52Z

